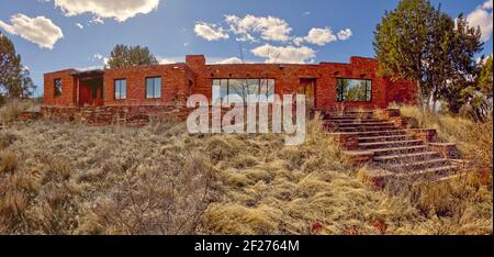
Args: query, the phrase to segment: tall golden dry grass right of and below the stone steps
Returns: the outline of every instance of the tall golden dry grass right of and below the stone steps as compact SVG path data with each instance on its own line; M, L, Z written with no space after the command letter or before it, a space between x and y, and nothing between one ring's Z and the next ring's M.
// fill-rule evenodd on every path
M427 219L439 219L436 234L492 234L492 119L475 123L447 113L425 113L416 107L398 107L416 127L434 127L440 141L458 145L468 165L465 176L448 182L422 183L402 193ZM468 225L467 225L468 224Z

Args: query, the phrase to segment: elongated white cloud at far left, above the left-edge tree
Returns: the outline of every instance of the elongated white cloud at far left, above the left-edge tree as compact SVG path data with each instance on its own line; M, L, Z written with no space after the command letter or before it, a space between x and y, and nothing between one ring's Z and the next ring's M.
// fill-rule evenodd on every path
M53 49L55 43L64 37L60 27L45 16L30 18L22 13L11 16L7 24L0 21L0 27L13 35L37 44L41 48Z

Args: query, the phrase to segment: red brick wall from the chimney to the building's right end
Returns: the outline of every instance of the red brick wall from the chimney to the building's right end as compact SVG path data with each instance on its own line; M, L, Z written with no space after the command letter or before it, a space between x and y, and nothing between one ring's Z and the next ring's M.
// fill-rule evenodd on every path
M279 65L279 64L228 64L206 65L203 56L189 56L187 65L197 75L193 92L212 97L212 80L225 78L270 78L276 79L276 93L296 93L301 79L316 79L316 108L333 109L336 105L347 108L388 108L390 102L411 102L414 99L413 85L406 81L397 86L389 79L377 76L378 62L372 58L351 57L349 64L322 63L319 65ZM336 101L338 78L371 79L371 102ZM392 93L388 93L392 90Z

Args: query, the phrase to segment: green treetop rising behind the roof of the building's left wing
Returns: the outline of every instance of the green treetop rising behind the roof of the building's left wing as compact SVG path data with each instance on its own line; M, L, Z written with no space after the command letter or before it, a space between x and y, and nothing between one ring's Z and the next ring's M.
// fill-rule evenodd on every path
M158 60L149 52L149 48L142 46L116 45L108 60L106 68L126 68L139 65L156 65Z

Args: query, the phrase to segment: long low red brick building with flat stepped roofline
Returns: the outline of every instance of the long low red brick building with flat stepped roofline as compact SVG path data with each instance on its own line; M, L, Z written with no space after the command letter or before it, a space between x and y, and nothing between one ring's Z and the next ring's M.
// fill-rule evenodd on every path
M123 69L45 74L44 104L48 108L183 107L191 94L210 100L226 94L305 93L316 109L388 108L414 102L415 86L377 75L378 62L351 57L349 64L206 64L203 55L184 64Z

